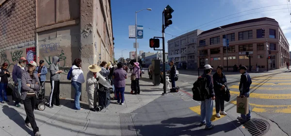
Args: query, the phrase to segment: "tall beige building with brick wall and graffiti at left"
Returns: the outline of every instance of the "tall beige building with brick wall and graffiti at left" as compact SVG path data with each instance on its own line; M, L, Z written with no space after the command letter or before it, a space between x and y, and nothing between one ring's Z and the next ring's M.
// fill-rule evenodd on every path
M90 64L113 60L111 0L0 0L0 64L9 71L21 56L45 60L60 57L61 97L74 98L66 79L72 62L82 60L84 75ZM50 73L46 90L50 92ZM82 101L87 101L85 84Z

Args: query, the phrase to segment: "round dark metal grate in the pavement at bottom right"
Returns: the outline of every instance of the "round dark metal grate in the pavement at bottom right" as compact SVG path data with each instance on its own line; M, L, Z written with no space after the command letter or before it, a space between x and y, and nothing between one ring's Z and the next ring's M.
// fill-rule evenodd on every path
M243 124L252 136L263 136L270 130L270 124L261 119L251 119Z

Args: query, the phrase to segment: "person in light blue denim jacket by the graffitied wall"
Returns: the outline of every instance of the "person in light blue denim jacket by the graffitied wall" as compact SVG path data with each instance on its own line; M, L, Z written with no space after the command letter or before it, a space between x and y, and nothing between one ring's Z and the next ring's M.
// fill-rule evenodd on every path
M42 84L46 81L47 79L47 73L48 73L48 68L45 66L45 61L44 60L40 60L39 61L39 66L36 67L35 72L38 76L38 79L40 81L40 85L42 86ZM43 88L45 87L45 84L43 86Z

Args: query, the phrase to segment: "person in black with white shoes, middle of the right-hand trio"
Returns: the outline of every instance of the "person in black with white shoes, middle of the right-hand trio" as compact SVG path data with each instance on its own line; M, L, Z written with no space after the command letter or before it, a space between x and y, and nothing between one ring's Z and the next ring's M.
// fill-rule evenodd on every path
M213 74L213 88L215 93L215 110L216 117L220 118L220 114L227 115L224 111L224 98L223 94L226 92L226 76L222 72L223 67L220 65L216 68L216 73ZM220 111L220 112L219 112Z

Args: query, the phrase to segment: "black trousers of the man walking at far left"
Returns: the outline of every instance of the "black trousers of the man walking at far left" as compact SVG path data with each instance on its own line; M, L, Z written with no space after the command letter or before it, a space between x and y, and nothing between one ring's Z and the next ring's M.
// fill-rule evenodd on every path
M39 131L35 122L34 114L33 114L35 104L36 104L35 95L31 95L31 96L27 95L25 100L23 101L24 109L26 112L25 123L31 123L34 134Z

